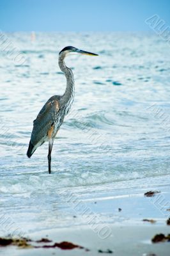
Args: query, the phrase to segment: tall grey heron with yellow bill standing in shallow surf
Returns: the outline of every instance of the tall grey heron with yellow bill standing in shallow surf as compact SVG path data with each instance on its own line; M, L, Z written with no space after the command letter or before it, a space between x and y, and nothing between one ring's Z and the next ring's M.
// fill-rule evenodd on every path
M51 152L54 138L63 124L64 118L68 115L74 99L74 78L73 72L65 65L65 58L69 54L86 54L89 56L98 56L98 54L82 51L73 46L66 46L59 52L58 65L66 77L66 89L63 95L54 95L50 97L38 116L33 121L33 131L27 150L27 157L31 157L36 148L40 147L45 141L49 141L48 166L51 173Z

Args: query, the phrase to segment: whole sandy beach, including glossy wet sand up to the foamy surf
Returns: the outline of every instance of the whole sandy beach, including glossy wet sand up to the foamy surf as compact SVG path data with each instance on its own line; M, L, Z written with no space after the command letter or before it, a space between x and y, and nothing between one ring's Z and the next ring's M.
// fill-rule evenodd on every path
M152 186L151 191L158 191L159 193L151 197L144 196L145 188L133 189L133 194L129 195L126 194L125 189L123 190L124 193L121 189L121 193L118 193L118 189L114 191L114 189L111 189L111 186L108 186L102 198L100 195L100 200L98 199L99 195L97 195L99 191L93 195L94 198L91 200L88 198L82 199L81 205L86 204L87 209L90 207L93 214L98 216L100 220L92 218L95 221L88 221L89 216L83 215L82 212L77 210L76 216L73 216L71 213L70 217L68 217L70 222L71 218L74 217L74 223L72 222L70 227L51 228L50 230L43 229L42 227L41 231L27 234L27 237L33 241L42 238L51 240L51 243L41 243L38 246L68 241L83 248L61 250L60 248L17 248L16 246L6 246L0 248L0 254L14 256L100 254L116 256L169 256L169 242L151 242L151 239L156 234L165 234L167 236L170 233L170 226L166 223L170 213L167 211L169 187ZM75 200L72 203L76 204ZM67 204L73 207L71 200ZM78 208L74 207L74 209ZM109 212L109 209L112 209L112 214ZM104 211L107 214L104 215ZM82 217L84 221L88 221L86 225L80 224ZM106 228L105 231L104 228ZM35 242L31 242L31 244L37 246Z

